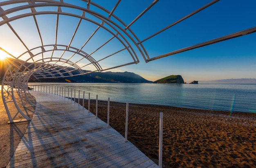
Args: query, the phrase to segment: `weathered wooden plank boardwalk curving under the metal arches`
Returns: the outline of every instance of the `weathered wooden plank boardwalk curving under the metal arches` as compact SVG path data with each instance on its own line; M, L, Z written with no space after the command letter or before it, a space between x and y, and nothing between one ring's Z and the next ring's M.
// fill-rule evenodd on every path
M65 97L32 92L36 111L9 167L158 167L129 141Z

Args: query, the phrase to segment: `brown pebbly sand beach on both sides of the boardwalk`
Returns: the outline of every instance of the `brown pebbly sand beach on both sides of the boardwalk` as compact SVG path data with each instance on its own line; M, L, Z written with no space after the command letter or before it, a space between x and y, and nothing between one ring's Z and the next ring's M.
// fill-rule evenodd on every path
M95 100L90 102L95 114ZM0 167L5 167L29 122L7 124L2 102L0 109ZM32 115L33 108L29 111ZM159 112L164 113L163 167L256 167L255 113L129 104L128 140L157 164ZM110 102L110 126L123 136L125 113L125 103ZM98 117L107 122L106 101L98 102Z

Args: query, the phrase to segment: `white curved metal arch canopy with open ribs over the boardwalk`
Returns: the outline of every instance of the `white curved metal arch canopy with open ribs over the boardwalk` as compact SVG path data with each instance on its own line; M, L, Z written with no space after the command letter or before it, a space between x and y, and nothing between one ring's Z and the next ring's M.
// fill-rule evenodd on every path
M117 0L115 6L112 7L112 10L109 11L103 6L92 2L91 0L81 0L82 2L85 2L85 6L77 6L75 4L65 3L64 0L15 0L15 1L3 1L0 2L0 27L2 25L7 25L9 29L12 31L14 36L18 39L18 41L24 46L25 51L22 51L20 55L12 55L5 49L4 47L0 46L0 50L4 51L8 55L10 55L15 60L12 60L12 66L9 66L7 71L4 74L4 78L2 80L2 99L4 100L4 106L7 109L7 114L9 117L10 122L13 122L16 115L20 113L25 119L29 120L30 118L22 112L22 110L17 106L16 100L15 100L15 92L18 93L18 98L20 98L22 105L25 106L25 104L29 103L31 105L34 105L31 102L32 96L30 95L29 91L27 90L27 82L31 76L35 78L48 78L48 77L66 77L66 76L74 76L79 74L85 74L83 71L83 68L86 68L88 65L93 65L96 70L94 71L106 71L113 68L118 68L121 66L126 66L129 64L137 64L139 63L138 55L141 55L145 62L149 62L152 60L156 60L162 57L166 57L169 55L173 55L176 53L181 53L184 51L188 51L191 49L196 49L202 46L214 44L216 42L221 42L224 40L228 40L231 38L236 38L242 35L246 35L249 33L256 32L256 27L252 27L250 29L238 31L236 33L232 33L229 35L225 35L213 40L209 40L206 42L201 42L199 44L195 44L192 46L187 46L182 49L178 49L175 51L170 51L168 53L158 55L158 56L152 56L150 57L148 55L148 52L143 44L144 42L147 42L150 38L159 35L160 33L163 33L167 29L173 27L176 24L179 24L180 22L183 22L184 20L190 18L191 16L195 15L196 13L199 13L202 10L207 9L211 5L215 4L219 0L212 0L211 2L203 5L202 7L196 9L192 13L189 13L188 15L184 16L183 18L180 18L176 22L173 22L169 24L167 27L161 29L160 31L157 31L153 33L153 35L148 36L147 38L144 38L144 40L140 40L138 36L132 31L130 28L137 20L139 20L145 13L150 11L150 9L157 3L159 3L159 0L152 0L150 5L146 7L144 11L141 11L139 15L135 19L133 19L130 23L125 23L123 20L121 20L117 15L114 14L115 9L119 6L119 3L121 0ZM74 1L73 1L74 2ZM77 2L77 1L76 1ZM4 10L2 7L8 5L9 9ZM12 7L11 5L14 5L15 7ZM37 11L38 8L43 7L56 7L56 10L50 11L50 10L43 10L43 11ZM95 7L96 10L92 10L92 7ZM81 15L77 15L73 12L63 12L63 8L68 9L76 9L81 12ZM25 11L29 9L28 11ZM100 10L100 12L98 11ZM21 12L21 14L19 13ZM56 27L55 27L55 43L54 44L46 44L43 41L40 27L38 26L38 18L36 16L38 15L56 15ZM92 15L94 18L91 19L90 17L86 17L86 15ZM13 15L11 17L8 17L9 15ZM73 32L72 37L70 38L70 42L66 44L59 44L57 43L58 39L58 24L59 24L59 16L66 15L70 16L71 18L77 18L79 21L77 22L76 28ZM20 37L20 34L17 33L16 29L14 29L11 25L11 22L14 20L19 20L21 18L29 18L33 17L37 36L40 40L39 46L31 47L29 48L28 45L24 42L24 39ZM80 28L80 24L82 21L90 22L91 24L95 25L97 28L91 33L89 38L87 40L84 40L83 45L81 48L76 48L72 44L74 37L77 34L78 29ZM107 34L111 35L111 37L107 40L105 40L103 43L99 44L96 49L93 51L85 52L84 47L88 45L89 41L95 36L95 34L100 30L103 29L106 31ZM99 54L100 57L97 56L94 57L94 54L99 52L100 49L102 49L107 44L110 44L110 41L113 39L117 40L119 44L121 44L121 49L116 49L112 53L108 53L103 55L102 53ZM52 47L51 49L47 49L48 47ZM41 51L38 51L40 49ZM58 56L55 56L55 54L58 51L63 51L62 54L58 54ZM50 56L45 56L52 52ZM69 58L65 59L64 54L66 52L72 53ZM118 63L118 65L108 65L108 67L102 66L104 61L118 55L119 53L127 52L129 57L132 61L127 61L125 63L119 63L118 61L112 61ZM88 54L89 53L89 54ZM29 55L29 58L27 59L26 56ZM77 61L72 61L72 58L77 57L77 55L81 56L81 59ZM39 57L39 58L38 58ZM20 60L24 60L23 62ZM86 62L83 62L85 61ZM67 64L68 66L65 67L64 65ZM82 66L79 64L82 64ZM104 67L104 68L102 68ZM90 71L90 72L94 72ZM86 72L86 73L90 73ZM24 96L25 97L24 97ZM25 99L25 102L23 102L23 99ZM16 115L12 116L11 113L8 110L7 104L10 102L14 102L18 113Z

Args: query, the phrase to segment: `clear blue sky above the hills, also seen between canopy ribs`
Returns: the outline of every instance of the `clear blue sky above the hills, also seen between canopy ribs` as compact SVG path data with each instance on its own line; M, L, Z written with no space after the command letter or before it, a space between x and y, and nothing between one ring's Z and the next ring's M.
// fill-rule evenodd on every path
M85 2L79 0L64 0L64 2L81 6L85 4ZM117 0L92 0L92 2L99 3L111 11ZM114 11L114 14L126 24L129 24L152 2L153 0L122 0ZM209 2L211 0L159 0L146 14L132 24L130 29L137 35L139 40L143 40ZM5 7L2 8L4 9ZM93 8L91 9L93 10ZM148 55L155 57L207 40L256 27L255 9L256 0L220 0L207 9L191 16L189 19L150 38L143 45ZM40 9L36 10L39 11ZM51 10L54 11L56 9L53 8ZM62 8L62 10L67 10L68 12L69 9ZM59 29L62 29L62 31L60 30L58 32L57 41L68 44L74 33L78 19L68 21L65 17L60 17ZM38 15L36 18L38 19L43 39L47 39L44 41L44 44L52 44L55 37L56 16L45 17ZM0 21L2 20L0 19ZM31 25L34 25L34 21L31 18L13 21L11 25L20 34L20 37L27 42L26 44L29 48L40 46L40 41L36 36L31 35L32 32L37 34L36 29L31 28ZM76 36L72 42L73 46L76 46L76 44L81 46L84 42L80 42L81 39L87 39L95 28L97 26L93 24L84 24L83 31L80 30L83 32L83 36L81 35L79 38ZM87 31L88 33L86 33ZM95 48L93 46L95 44L99 43L102 39L105 40L111 37L111 35L108 35L104 31L99 31L97 34L94 37L95 39L83 49L85 52L90 53L94 51ZM0 37L2 37L0 46L3 46L2 48L13 55L24 52L22 49L19 51L19 48L24 49L24 46L20 42L16 44L17 40L12 39L13 36L13 33L6 25L0 27ZM5 41L2 39L9 40ZM17 51L11 49L13 44L18 49ZM92 56L97 58L101 53L112 53L115 49L121 49L121 46L113 41L110 43L110 46L103 47L103 49L97 51ZM126 53L123 55L126 56ZM138 58L140 61L138 64L119 67L110 71L133 72L151 81L168 75L182 75L185 82L192 82L193 80L256 78L256 33L171 55L148 63L145 63L144 58L139 54ZM126 57L123 58L123 60L126 59ZM118 62L118 60L114 59L112 62L105 63L112 64L115 61Z

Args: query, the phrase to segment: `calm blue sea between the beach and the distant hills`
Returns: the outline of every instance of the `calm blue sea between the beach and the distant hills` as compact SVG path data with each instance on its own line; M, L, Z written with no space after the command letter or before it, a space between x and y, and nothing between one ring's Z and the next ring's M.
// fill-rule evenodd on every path
M233 112L256 113L256 84L99 84L99 83L29 83L78 90L80 98L156 104ZM52 86L51 86L52 87ZM38 87L36 88L38 90ZM67 96L67 95L66 95Z

